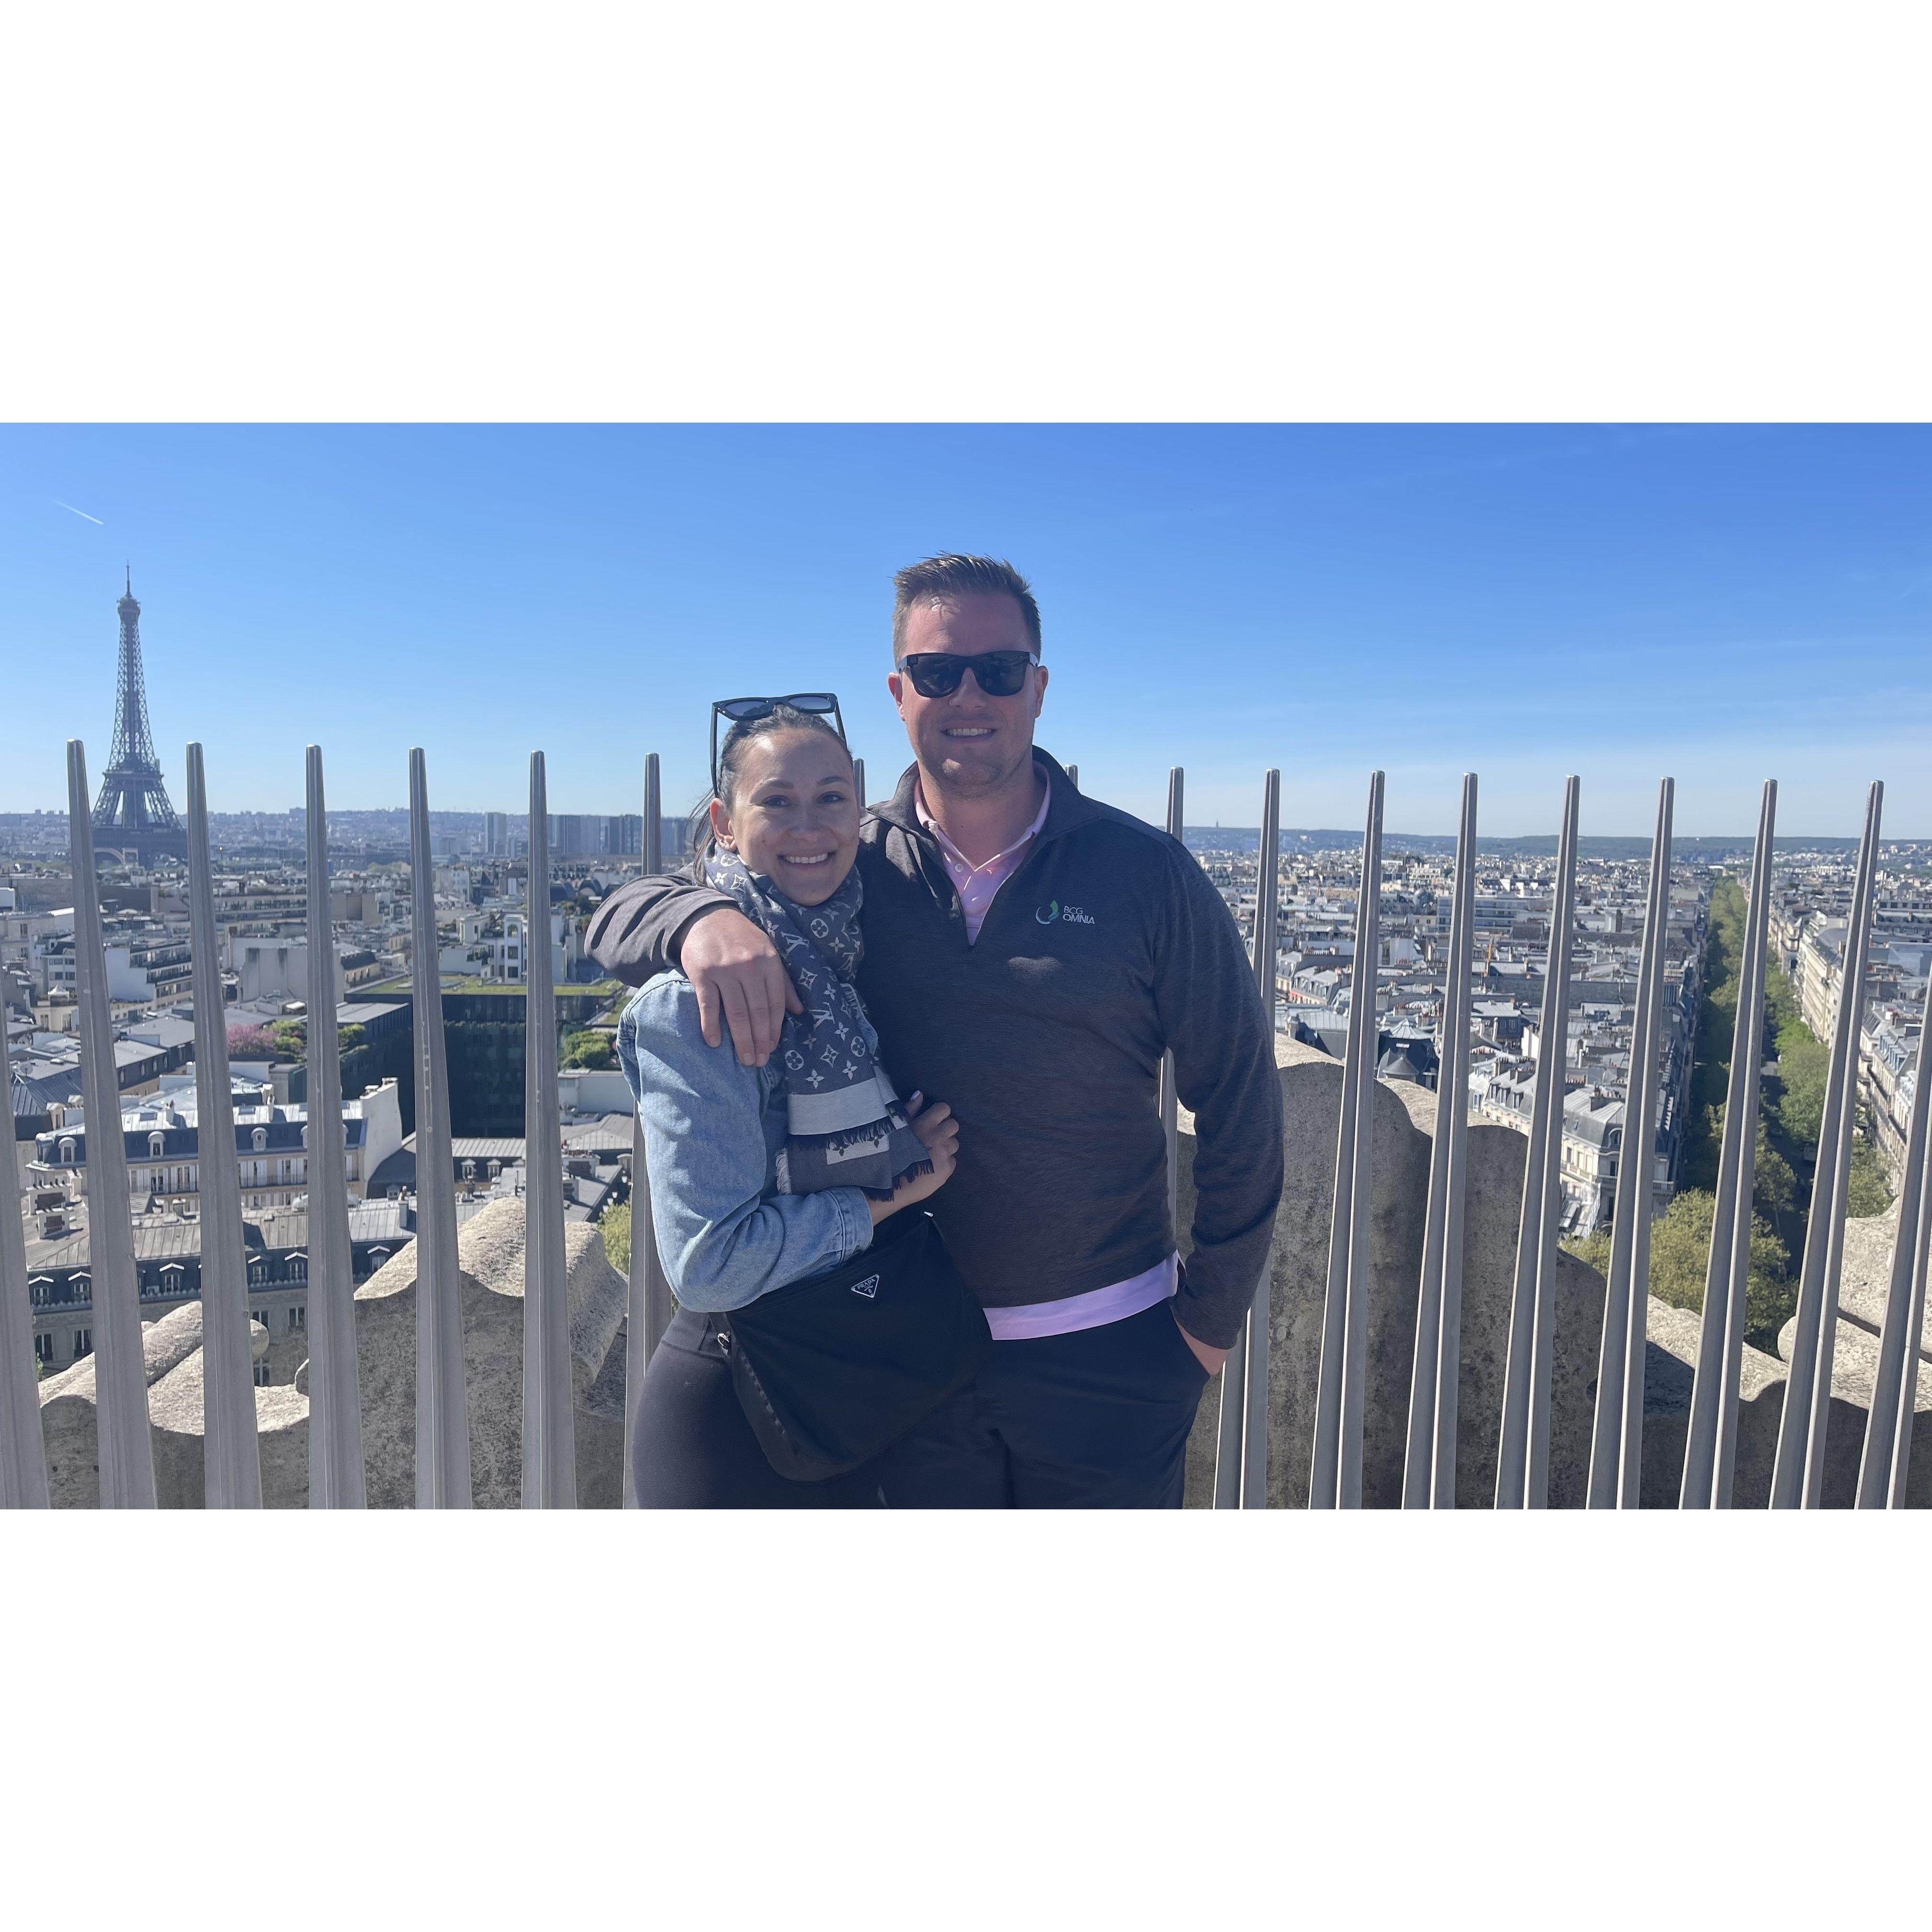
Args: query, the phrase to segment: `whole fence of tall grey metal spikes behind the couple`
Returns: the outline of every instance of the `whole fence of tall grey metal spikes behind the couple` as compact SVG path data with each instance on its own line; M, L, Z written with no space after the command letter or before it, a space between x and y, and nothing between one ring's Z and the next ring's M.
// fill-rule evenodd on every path
M147 1379L141 1354L139 1298L126 1150L104 1122L118 1121L112 1028L102 964L100 902L87 815L87 765L77 742L68 748L68 784L75 881L75 983L91 1192L91 1281L95 1323L95 1393L104 1507L153 1507L155 1470L147 1426ZM1184 773L1169 775L1169 831L1182 835ZM187 784L189 916L197 1020L195 1070L203 1132L232 1142L226 1037L220 1028L207 796L199 746L189 750ZM361 1507L363 1468L352 1302L346 1169L340 1144L340 1055L328 906L327 806L321 752L307 769L307 914L309 914L309 1443L311 1505ZM1832 1352L1839 1271L1843 1265L1849 1150L1857 1109L1862 980L1870 952L1882 788L1872 786L1857 887L1845 945L1845 974L1832 1037L1822 1155L1810 1240L1801 1277L1799 1341L1779 1434L1774 1505L1818 1507L1824 1426L1832 1387ZM663 867L657 755L645 779L645 867ZM1374 1082L1379 1024L1376 962L1379 956L1383 781L1370 782L1356 900L1356 985L1350 999L1343 1063L1327 1294L1310 1503L1358 1507L1362 1501L1364 1366L1368 1306L1368 1209L1374 1153ZM1663 947L1669 923L1669 852L1673 784L1660 786L1644 908L1642 962L1633 1032L1633 1103L1623 1138L1613 1213L1609 1293L1598 1364L1588 1501L1634 1507L1642 1455L1644 1304L1658 1121ZM1563 1065L1569 1005L1569 937L1575 923L1578 784L1565 786L1551 904L1549 966L1544 985L1536 1107L1524 1165L1522 1215L1511 1302L1509 1360L1499 1434L1497 1505L1540 1507L1549 1482L1549 1335L1555 1279L1557 1161L1563 1124ZM1776 825L1776 784L1766 784L1752 856L1745 947L1739 966L1739 1020L1731 1051L1731 1088L1719 1151L1716 1225L1706 1273L1698 1366L1683 1474L1683 1507L1727 1507L1737 1459L1739 1374L1745 1291L1750 1252L1752 1151L1756 1142L1760 1047L1768 972L1768 912ZM529 864L529 1039L554 1032L549 947L549 842L545 769L531 757ZM435 871L429 844L429 800L423 753L410 757L412 941L415 974L417 1103L417 1503L469 1503L468 1395L462 1356L462 1304L456 1273L454 1163L450 1159L448 1068L437 987ZM1254 970L1269 1032L1275 995L1279 775L1264 788L1264 844L1258 867ZM1437 1130L1430 1163L1428 1221L1410 1378L1405 1507L1453 1507L1461 1345L1461 1248L1466 1192L1466 1080L1474 947L1476 779L1464 779L1449 900L1449 974L1443 1010ZM1932 989L1926 997L1932 1036ZM1161 1119L1167 1134L1169 1198L1177 1194L1179 1095L1173 1065L1163 1065ZM226 1134L224 1134L226 1122ZM319 1126L321 1122L321 1126ZM1926 1273L1932 1252L1932 1080L1917 1080L1905 1155L1899 1229L1878 1341L1878 1376L1862 1445L1857 1501L1903 1507L1917 1403L1918 1354L1924 1347ZM526 1229L524 1343L524 1505L572 1507L576 1461L564 1281L562 1157L553 1057L533 1053L526 1066L526 1140L531 1150ZM226 1171L226 1182L222 1173ZM251 1507L261 1499L255 1449L253 1387L247 1370L247 1281L240 1248L240 1188L232 1163L203 1163L203 1323L207 1376L207 1501ZM230 1198L232 1196L232 1198ZM632 1283L626 1372L628 1408L670 1316L670 1294L657 1262L649 1215L649 1177L641 1130L632 1169ZM33 1316L25 1275L17 1186L0 1229L0 1505L44 1507L48 1472L33 1387ZM234 1264L234 1265L232 1265ZM1267 1337L1269 1275L1258 1283L1240 1345L1223 1370L1215 1505L1265 1507L1267 1495ZM240 1370L240 1374L238 1374ZM243 1389L242 1378L247 1378ZM626 1507L634 1505L626 1416ZM1291 1480L1296 1480L1291 1472Z

